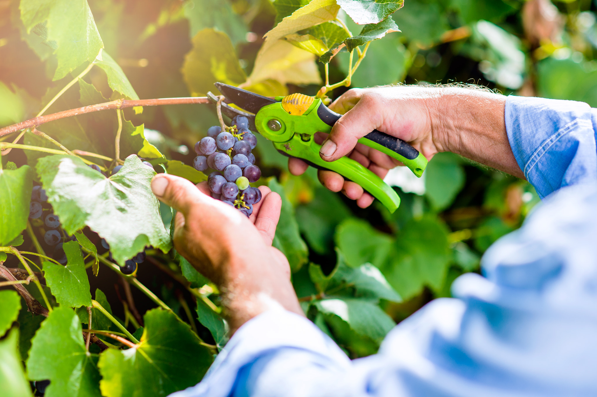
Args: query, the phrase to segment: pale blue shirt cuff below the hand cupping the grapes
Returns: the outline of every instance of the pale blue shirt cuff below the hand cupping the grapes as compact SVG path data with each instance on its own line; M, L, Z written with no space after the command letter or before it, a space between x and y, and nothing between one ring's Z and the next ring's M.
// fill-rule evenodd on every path
M272 309L236 331L201 383L171 397L229 396L242 367L281 348L309 351L340 367L350 367L346 354L313 322L284 309Z

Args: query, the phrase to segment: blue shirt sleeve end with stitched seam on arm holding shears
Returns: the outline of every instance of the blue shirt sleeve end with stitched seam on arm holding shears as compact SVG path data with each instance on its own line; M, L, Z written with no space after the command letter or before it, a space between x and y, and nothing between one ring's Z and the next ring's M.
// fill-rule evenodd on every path
M594 114L583 102L507 98L504 116L512 153L541 198L597 179Z

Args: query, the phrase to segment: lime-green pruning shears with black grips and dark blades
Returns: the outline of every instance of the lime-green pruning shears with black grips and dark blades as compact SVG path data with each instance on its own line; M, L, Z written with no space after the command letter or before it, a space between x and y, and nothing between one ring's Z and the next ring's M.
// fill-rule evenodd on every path
M246 110L238 110L222 102L222 113L230 118L238 115L247 117L249 129L272 141L280 153L298 157L315 168L332 170L345 179L356 182L380 200L390 212L394 212L400 205L400 197L393 188L355 160L341 157L334 162L326 162L319 157L321 145L315 142L313 134L329 134L334 123L341 117L341 114L325 106L321 99L304 94L269 98L223 83L216 83L216 87L224 95L226 102ZM217 103L216 96L211 92L207 95L211 101ZM418 150L402 139L383 132L374 130L358 142L401 161L418 177L427 166L427 159Z

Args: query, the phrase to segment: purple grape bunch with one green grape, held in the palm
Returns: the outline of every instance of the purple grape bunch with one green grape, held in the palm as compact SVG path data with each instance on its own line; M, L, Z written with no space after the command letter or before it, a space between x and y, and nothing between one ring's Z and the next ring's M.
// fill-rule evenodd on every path
M261 178L261 170L251 153L257 146L257 138L248 126L247 117L236 116L226 131L221 131L220 126L210 127L207 137L195 144L198 156L193 161L198 171L214 170L207 179L211 197L247 216L253 213L253 204L261 200L261 191L249 186L249 182Z

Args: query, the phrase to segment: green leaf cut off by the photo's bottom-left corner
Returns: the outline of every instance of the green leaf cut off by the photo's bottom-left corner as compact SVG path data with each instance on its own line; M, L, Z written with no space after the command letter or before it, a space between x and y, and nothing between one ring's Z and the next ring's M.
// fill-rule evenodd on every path
M14 328L0 340L0 391L2 397L30 397L31 387L19 355L19 330Z

